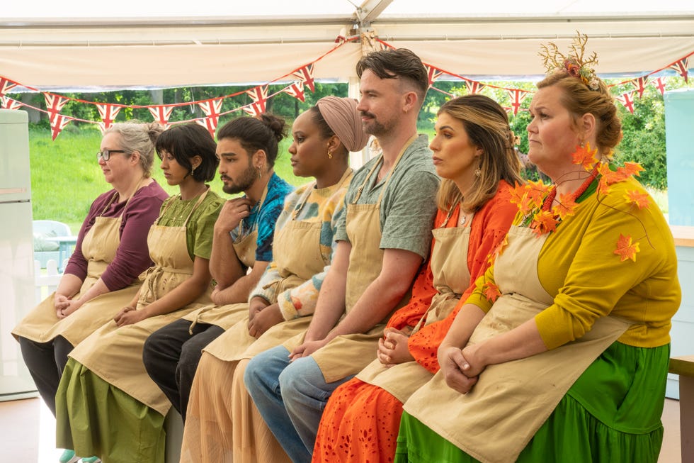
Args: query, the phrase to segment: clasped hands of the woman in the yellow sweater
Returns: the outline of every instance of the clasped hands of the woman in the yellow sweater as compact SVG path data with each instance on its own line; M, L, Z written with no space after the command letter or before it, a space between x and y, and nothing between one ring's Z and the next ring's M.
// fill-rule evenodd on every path
M467 394L477 383L479 374L486 367L479 359L479 345L470 345L465 349L441 345L438 349L438 364L448 387Z

